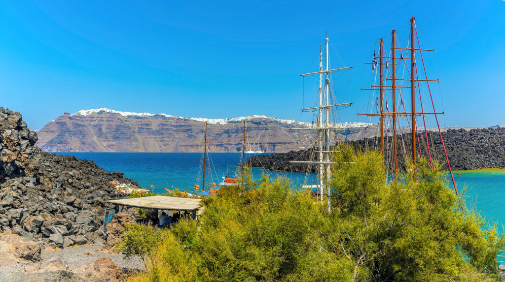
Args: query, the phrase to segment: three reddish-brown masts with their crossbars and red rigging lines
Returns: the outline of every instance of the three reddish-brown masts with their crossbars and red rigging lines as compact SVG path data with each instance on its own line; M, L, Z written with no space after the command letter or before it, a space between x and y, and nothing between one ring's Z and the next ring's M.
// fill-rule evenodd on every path
M380 58L380 85L375 85L375 82L370 85L370 88L362 88L361 90L371 90L373 91L372 93L375 93L375 91L379 90L380 91L380 105L378 104L378 109L377 113L371 113L371 114L358 114L358 115L365 115L365 116L379 116L380 117L380 148L381 148L381 153L383 155L384 161L387 164L387 167L390 168L390 171L393 176L393 181L398 181L398 173L400 171L398 170L398 160L397 160L397 130L399 129L400 133L400 138L401 138L401 146L403 147L403 159L409 158L408 156L408 151L411 151L411 160L412 160L412 165L414 166L414 170L412 171L412 176L414 181L417 181L417 169L416 169L416 162L418 155L419 157L422 157L423 154L423 148L421 147L421 144L423 144L426 148L427 151L427 156L430 162L430 166L433 169L433 164L432 164L432 155L435 155L434 150L430 150L430 142L429 142L429 137L428 134L431 135L431 131L427 128L426 126L426 121L425 117L428 115L433 115L436 121L438 133L440 135L440 141L441 145L443 148L443 153L445 155L445 160L447 161L447 168L450 173L450 177L452 180L452 184L455 189L455 193L458 196L458 200L460 200L459 193L458 193L458 187L456 185L456 181L453 177L452 174L452 168L450 166L449 158L447 155L447 150L445 148L445 143L444 139L442 136L442 131L440 129L440 124L438 122L438 117L437 115L443 115L444 112L438 112L435 108L435 103L433 101L433 95L432 91L430 89L430 82L435 82L438 83L438 79L430 79L427 75L426 71L426 65L424 63L423 59L423 51L430 51L433 52L433 49L424 49L421 48L421 43L419 41L419 35L417 33L416 29L416 19L412 17L410 19L410 36L406 37L406 42L403 44L406 44L407 46L401 47L396 30L391 31L391 51L390 54L391 56L385 56L384 55L384 45L383 45L383 38L379 39L379 56L377 57L375 55L375 48L374 48L374 54L373 54L373 59L372 62L367 62L365 64L371 64L372 65L372 72L374 72L375 66L377 65L377 58ZM410 37L410 38L409 38ZM416 43L417 41L417 43ZM402 52L406 52L406 56L404 57ZM399 57L396 52L399 52ZM409 57L410 55L410 57ZM383 59L386 59L386 74L384 77L383 74ZM391 65L391 73L389 74L388 70L388 60L389 60L389 65ZM409 62L409 63L408 63ZM403 65L403 67L401 66ZM398 68L400 68L400 71L402 70L403 72L406 72L405 76L406 78L400 78L397 77L398 73ZM419 68L418 68L419 66ZM421 77L418 73L418 69L423 70L424 77ZM386 85L387 82L390 82L390 85ZM402 82L407 83L407 85L401 85ZM417 83L417 86L416 86ZM422 88L421 83L423 83L426 88ZM411 103L411 110L410 112L407 111L407 108L404 104L403 97L402 98L402 90L410 90L410 103ZM416 90L419 94L419 98L416 99ZM427 92L426 92L427 90ZM390 97L392 98L392 112L389 111L388 109L388 102L386 98L386 91L391 93ZM405 93L405 92L404 92ZM429 98L429 101L431 102L431 106L433 111L425 111L423 108L423 97L422 94L425 94L427 98ZM400 103L397 103L397 96L398 94L398 100ZM375 94L374 94L375 95ZM419 106L417 106L417 102L419 102ZM384 104L386 104L386 111L384 111ZM403 107L403 111L398 111L397 106L401 105ZM421 111L419 112L419 109L416 107L420 107ZM420 117L420 118L417 118ZM387 125L384 128L384 119L387 118L388 122ZM392 118L392 132L389 133L389 120ZM408 127L410 128L410 140L407 140L407 142L404 142L403 140L403 134L402 134L402 126L400 125L400 119L405 118L405 121L407 121ZM403 119L402 119L403 120ZM418 121L419 120L419 121ZM423 140L423 134L419 134L418 132L418 127L419 125L417 124L418 122L423 123L424 127L424 137L425 139ZM429 132L429 133L428 133ZM390 134L392 135L392 149L389 147L389 137ZM387 138L387 151L389 153L389 156L386 157L386 152L385 152L385 145L384 145L384 136ZM423 147L424 147L423 146ZM433 149L434 143L433 143L433 137L431 137L431 147ZM419 149L419 151L418 151ZM392 156L391 156L392 155ZM405 166L405 161L404 164ZM461 204L460 200L460 207L464 212L463 205Z

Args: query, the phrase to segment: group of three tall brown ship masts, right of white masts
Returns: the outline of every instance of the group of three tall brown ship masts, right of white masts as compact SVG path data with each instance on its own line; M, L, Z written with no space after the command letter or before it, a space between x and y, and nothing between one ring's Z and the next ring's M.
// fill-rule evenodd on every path
M366 64L372 65L372 73L375 72L372 77L375 79L372 79L370 88L362 90L371 91L372 100L377 100L376 103L371 103L375 104L375 110L358 115L379 117L380 134L377 134L377 137L380 137L380 140L376 141L375 147L380 148L392 181L397 182L398 174L404 173L401 167L398 167L398 157L403 159L405 167L406 160L412 162L415 180L418 157L426 158L432 169L434 161L444 159L455 193L460 200L439 123L439 116L444 115L444 112L440 111L434 102L435 90L432 87L439 81L432 78L432 74L428 75L428 67L425 65L425 57L434 52L434 49L421 47L414 17L410 19L410 25L405 26L403 39L398 40L398 32L394 29L391 31L390 48L389 40L384 38L379 38L379 46L374 47L372 62ZM375 53L377 47L378 56ZM389 110L389 105L392 105L392 111ZM436 123L436 127L432 129L427 125L430 119ZM440 140L440 143L436 144L435 139ZM438 148L435 145L438 145ZM461 200L460 207L464 212Z

